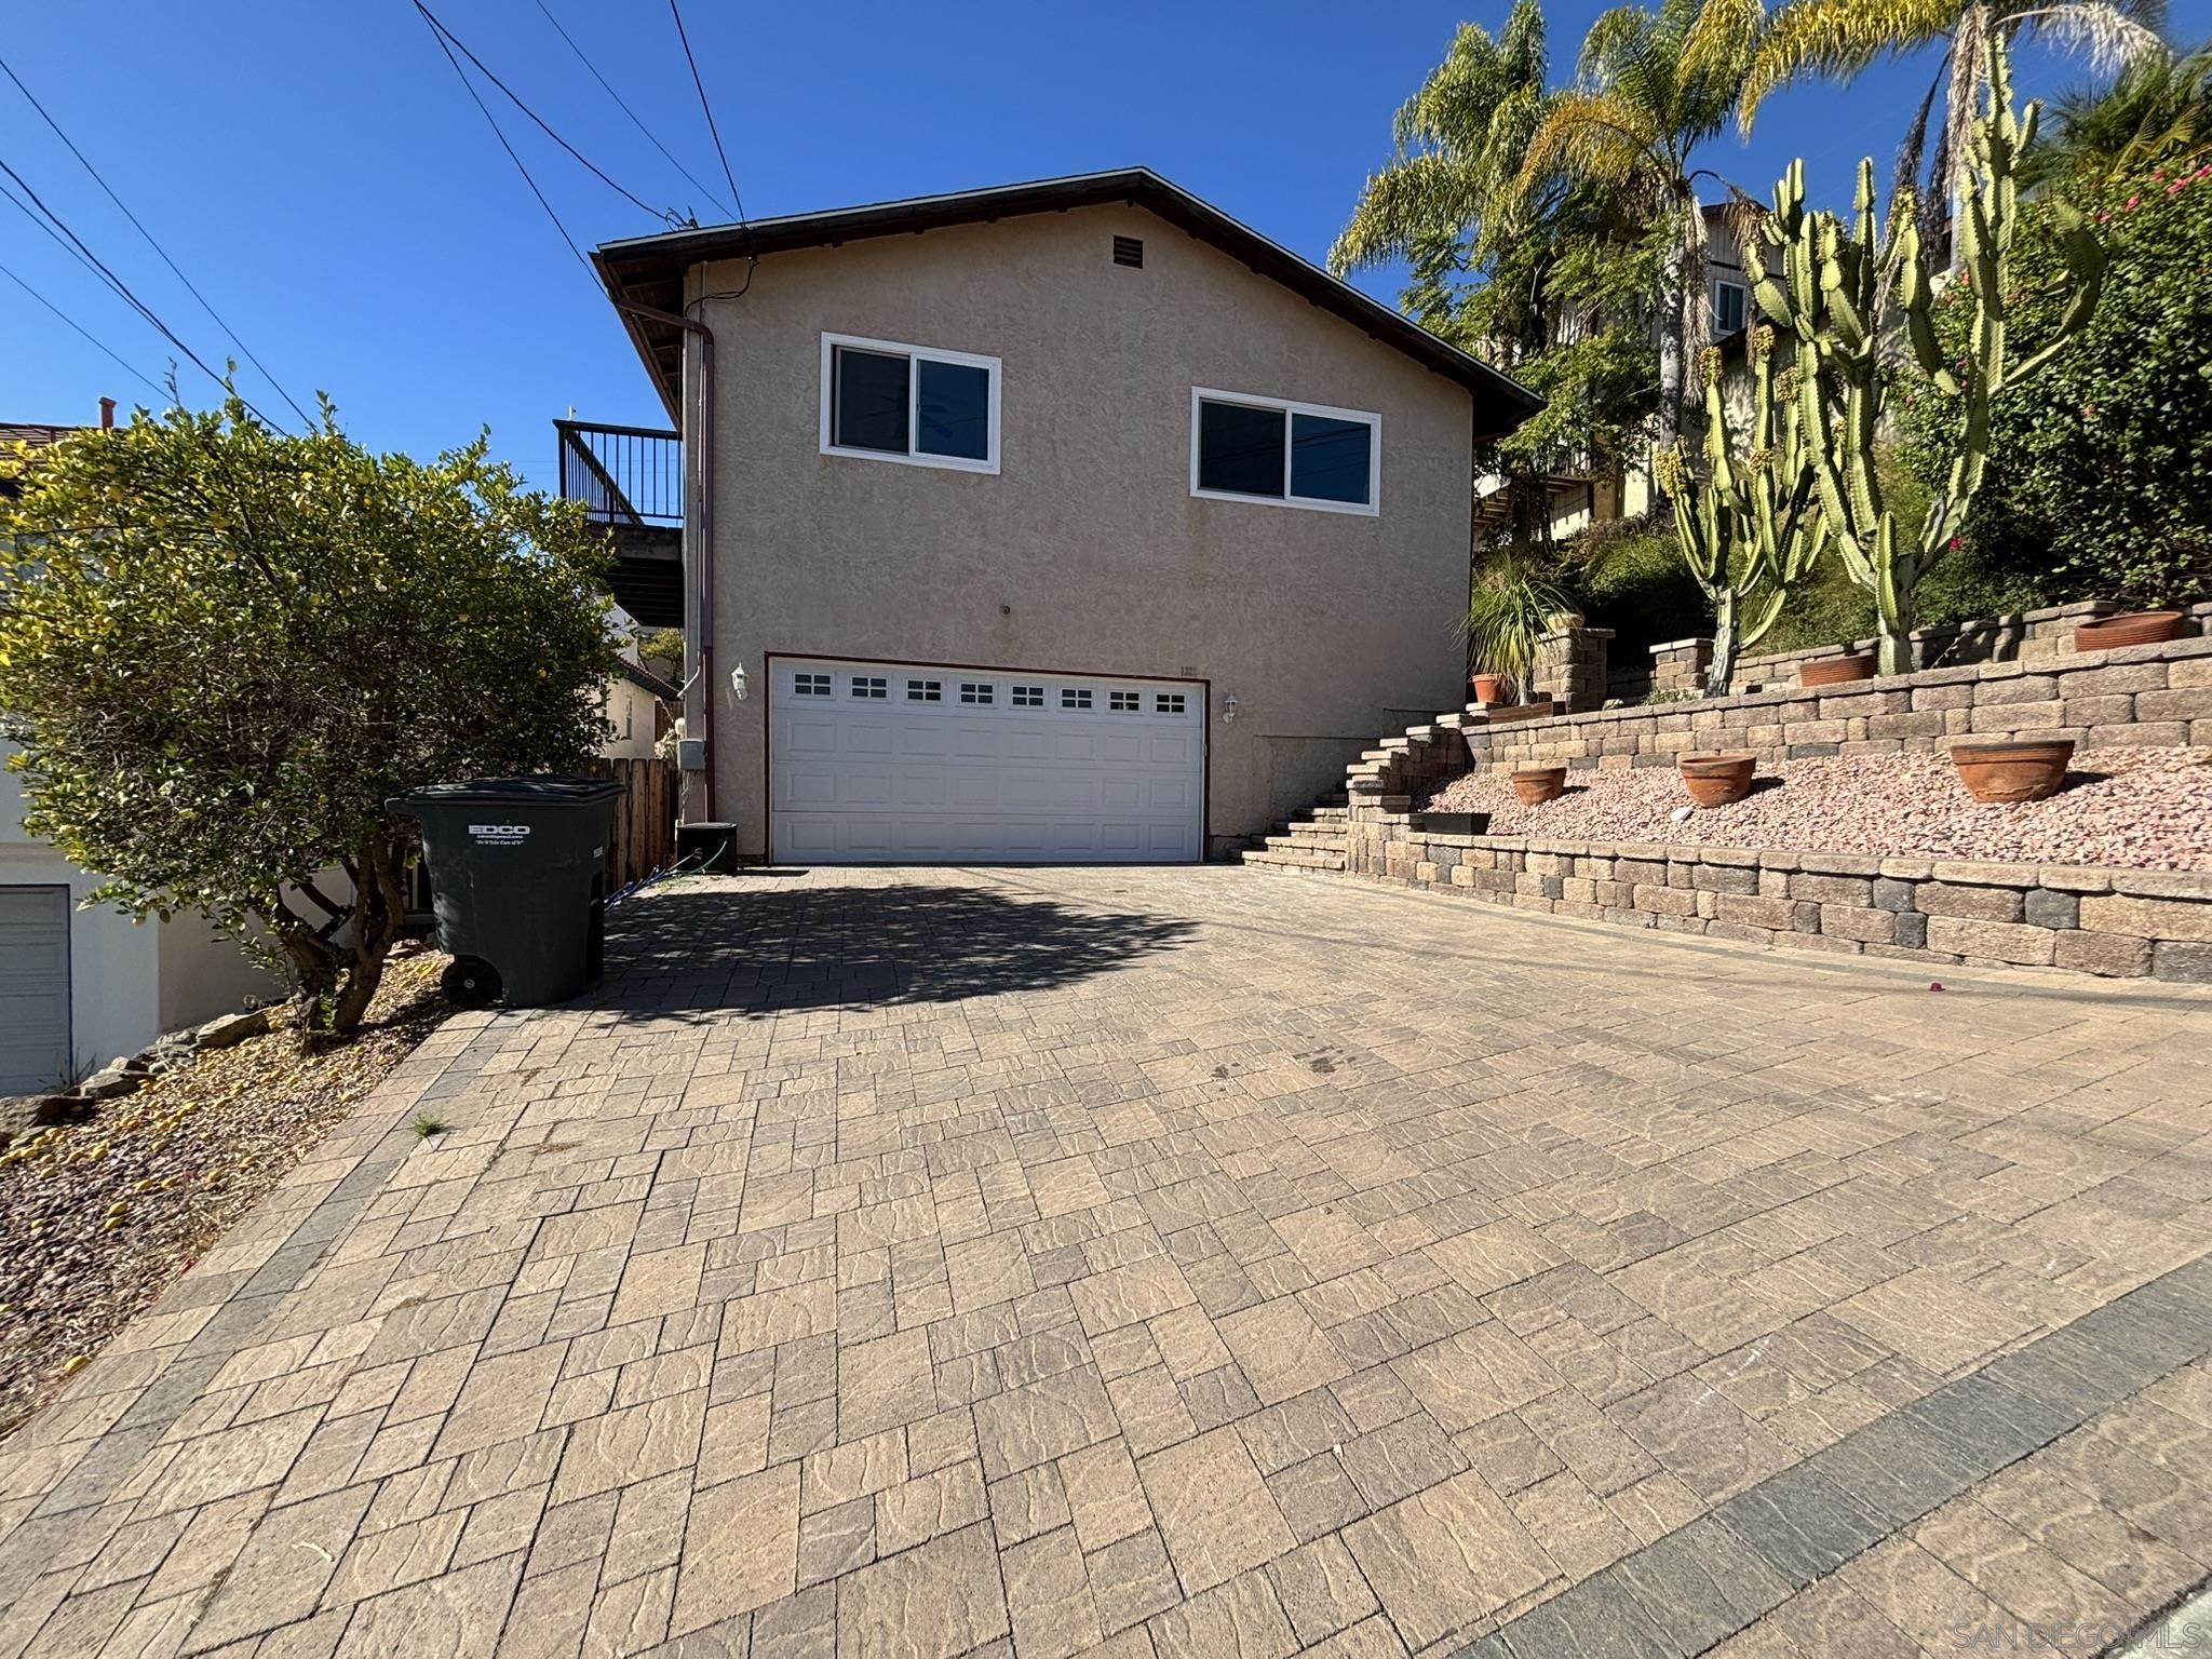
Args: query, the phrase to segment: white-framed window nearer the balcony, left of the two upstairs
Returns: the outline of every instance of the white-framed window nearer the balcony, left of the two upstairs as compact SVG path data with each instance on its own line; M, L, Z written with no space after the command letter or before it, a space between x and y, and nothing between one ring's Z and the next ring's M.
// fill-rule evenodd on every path
M823 453L998 471L998 358L823 334Z

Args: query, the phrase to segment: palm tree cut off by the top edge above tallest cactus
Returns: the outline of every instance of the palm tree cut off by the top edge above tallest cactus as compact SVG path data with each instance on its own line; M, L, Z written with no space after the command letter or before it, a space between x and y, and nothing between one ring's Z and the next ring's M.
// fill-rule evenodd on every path
M1896 181L1900 188L1918 186L1929 122L1942 95L1944 119L1920 201L1927 217L1922 237L1931 252L1947 257L1951 201L1971 148L1966 128L1986 93L1989 33L1995 29L2008 40L2035 35L2073 46L2093 71L2106 73L2163 55L2163 20L2166 0L1785 0L1759 29L1736 122L1750 133L1767 95L1792 82L1851 82L1887 58L1940 44L1942 62L1898 146Z

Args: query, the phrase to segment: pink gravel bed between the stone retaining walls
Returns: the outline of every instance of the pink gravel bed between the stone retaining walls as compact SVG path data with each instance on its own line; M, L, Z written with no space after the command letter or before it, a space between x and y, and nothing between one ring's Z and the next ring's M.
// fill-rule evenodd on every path
M1942 754L1783 761L1730 807L1688 812L1672 768L1568 772L1537 807L1502 772L1469 774L1425 812L1489 812L1493 836L1805 847L2020 865L2212 869L2212 750L2077 752L2066 787L2017 807L1975 805Z

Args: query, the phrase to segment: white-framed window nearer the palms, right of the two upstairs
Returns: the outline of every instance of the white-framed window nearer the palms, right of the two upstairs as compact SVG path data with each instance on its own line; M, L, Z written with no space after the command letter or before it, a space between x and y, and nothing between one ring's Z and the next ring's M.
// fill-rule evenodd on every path
M1190 493L1374 518L1383 416L1192 387Z

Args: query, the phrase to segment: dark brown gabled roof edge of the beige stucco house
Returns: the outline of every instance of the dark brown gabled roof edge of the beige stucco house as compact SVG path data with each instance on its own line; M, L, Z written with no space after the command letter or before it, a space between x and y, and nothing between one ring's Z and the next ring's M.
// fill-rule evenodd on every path
M796 212L783 219L752 219L701 230L666 230L653 237L602 243L593 263L617 301L650 305L661 312L684 307L684 274L708 259L743 259L748 254L781 254L796 248L834 248L865 237L898 237L945 226L991 223L1029 212L1064 212L1066 208L1099 208L1128 204L1159 215L1170 226L1212 243L1261 276L1283 283L1301 299L1334 312L1383 345L1405 352L1475 396L1475 431L1495 438L1513 431L1544 407L1528 387L1500 374L1478 356L1440 341L1436 334L1400 316L1349 283L1329 276L1307 259L1270 241L1250 226L1230 219L1188 190L1168 184L1150 168L1117 168L1113 173L1077 173L1066 179L1002 184L989 190L958 190L942 197L909 197L863 208ZM646 361L670 418L679 411L684 378L684 336L668 323L655 323L633 312L622 314L637 354Z

